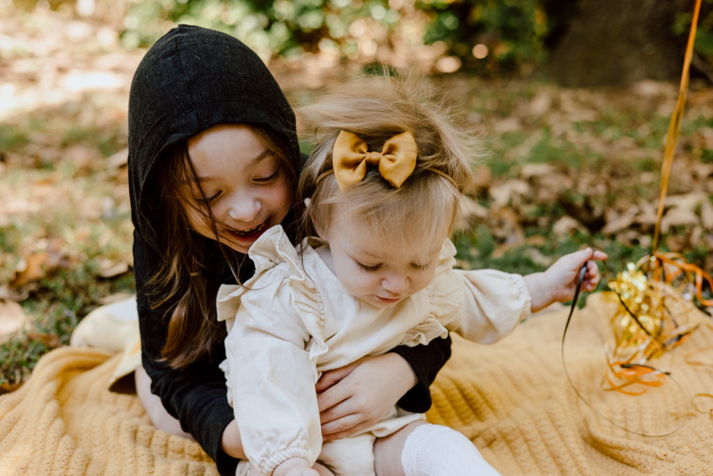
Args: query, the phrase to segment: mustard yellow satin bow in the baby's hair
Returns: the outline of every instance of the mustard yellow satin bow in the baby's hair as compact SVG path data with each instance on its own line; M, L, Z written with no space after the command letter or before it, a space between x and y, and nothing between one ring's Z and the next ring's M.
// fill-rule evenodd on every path
M379 173L391 186L399 188L416 168L416 141L409 131L384 142L381 152L369 151L364 139L340 131L332 151L334 178L342 191L366 176L366 166L379 166Z

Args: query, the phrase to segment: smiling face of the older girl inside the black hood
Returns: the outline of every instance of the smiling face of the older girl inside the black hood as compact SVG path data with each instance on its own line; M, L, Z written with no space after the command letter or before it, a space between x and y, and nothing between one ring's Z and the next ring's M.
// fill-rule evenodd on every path
M188 140L204 198L195 188L198 208L210 206L222 243L247 253L271 226L282 222L292 193L282 163L245 124L219 124ZM187 207L190 225L207 238L215 233L205 213Z

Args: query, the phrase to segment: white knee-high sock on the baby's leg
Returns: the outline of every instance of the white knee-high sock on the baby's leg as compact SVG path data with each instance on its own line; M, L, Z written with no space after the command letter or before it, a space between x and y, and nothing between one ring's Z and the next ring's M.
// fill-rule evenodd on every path
M462 433L441 425L419 425L404 442L406 476L499 475Z

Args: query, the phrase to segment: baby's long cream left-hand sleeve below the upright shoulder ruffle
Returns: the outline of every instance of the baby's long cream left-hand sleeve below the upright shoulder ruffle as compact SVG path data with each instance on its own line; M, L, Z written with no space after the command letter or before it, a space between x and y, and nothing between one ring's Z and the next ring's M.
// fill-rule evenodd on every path
M235 313L240 325L232 325L225 340L224 370L245 454L267 474L291 457L314 464L322 450L316 370L307 349L309 333L292 318L289 289L284 282L251 293L230 288L221 288L218 310L221 315L240 305Z

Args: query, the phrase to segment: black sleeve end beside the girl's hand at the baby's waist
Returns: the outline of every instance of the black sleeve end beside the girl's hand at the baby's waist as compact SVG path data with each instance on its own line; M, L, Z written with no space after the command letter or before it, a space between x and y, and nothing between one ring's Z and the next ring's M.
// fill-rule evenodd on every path
M429 387L436 380L438 370L446 365L451 358L451 337L436 338L428 345L408 347L399 345L391 349L403 357L411 365L419 382L406 395L401 397L398 405L408 412L423 413L431 408L431 391Z

